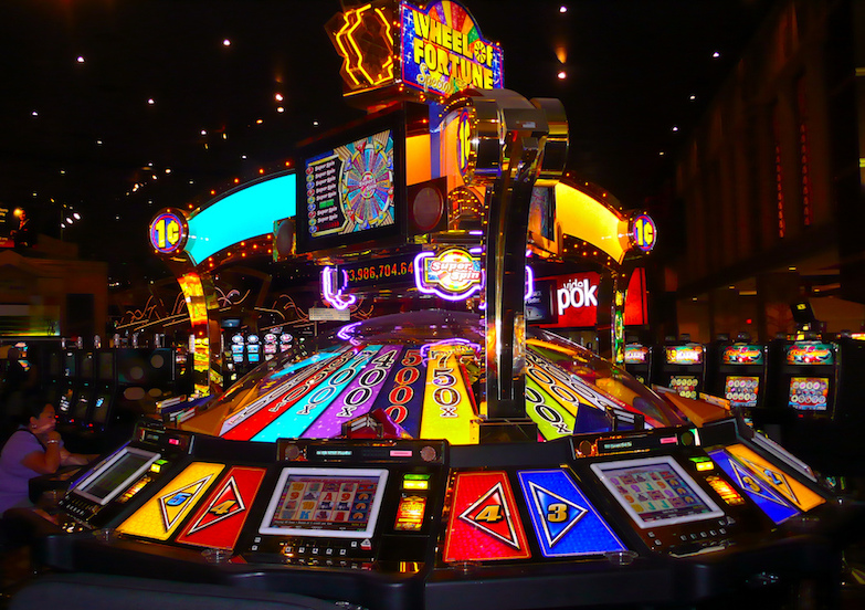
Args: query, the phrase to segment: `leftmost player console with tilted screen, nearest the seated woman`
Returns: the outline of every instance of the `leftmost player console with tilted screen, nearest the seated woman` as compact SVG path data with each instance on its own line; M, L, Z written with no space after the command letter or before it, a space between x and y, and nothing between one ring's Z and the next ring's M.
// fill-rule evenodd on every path
M70 486L60 501L67 532L114 527L171 476L192 448L192 435L139 423L127 444L102 460Z

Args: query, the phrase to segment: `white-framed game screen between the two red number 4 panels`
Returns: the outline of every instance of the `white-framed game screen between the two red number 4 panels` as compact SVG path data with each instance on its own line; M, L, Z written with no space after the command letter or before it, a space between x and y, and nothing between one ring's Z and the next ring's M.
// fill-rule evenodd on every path
M369 538L387 481L387 470L285 467L259 533Z

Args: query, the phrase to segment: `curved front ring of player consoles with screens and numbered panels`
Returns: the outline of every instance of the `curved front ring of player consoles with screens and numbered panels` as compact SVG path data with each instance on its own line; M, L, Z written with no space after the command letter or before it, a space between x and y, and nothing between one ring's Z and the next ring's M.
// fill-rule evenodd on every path
M831 597L854 508L728 419L493 445L141 422L60 511L40 554L56 570L453 610L690 603L760 578Z

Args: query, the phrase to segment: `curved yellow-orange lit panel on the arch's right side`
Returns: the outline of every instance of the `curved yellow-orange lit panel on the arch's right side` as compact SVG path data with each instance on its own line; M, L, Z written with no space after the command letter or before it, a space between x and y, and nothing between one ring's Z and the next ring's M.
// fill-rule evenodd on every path
M563 182L556 185L556 224L622 263L631 248L627 221L593 197ZM561 248L562 244L558 244Z

